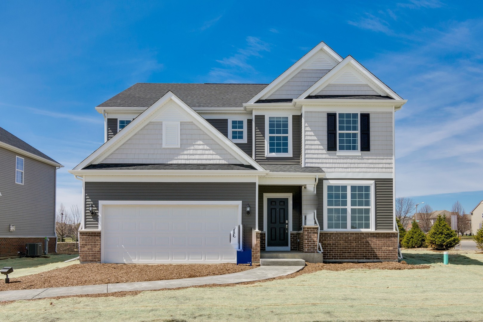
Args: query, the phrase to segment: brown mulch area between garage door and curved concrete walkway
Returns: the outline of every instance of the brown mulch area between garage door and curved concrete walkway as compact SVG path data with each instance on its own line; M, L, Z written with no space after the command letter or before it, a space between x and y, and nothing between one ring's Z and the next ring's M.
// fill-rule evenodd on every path
M11 278L10 284L5 284L5 281L1 280L0 291L186 279L236 273L255 267L232 263L213 265L74 264L38 274Z

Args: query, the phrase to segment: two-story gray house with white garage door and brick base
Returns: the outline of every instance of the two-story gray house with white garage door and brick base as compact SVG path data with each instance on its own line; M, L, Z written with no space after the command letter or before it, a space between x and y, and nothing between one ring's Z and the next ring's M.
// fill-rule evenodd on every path
M134 84L96 107L106 142L70 171L81 262L236 262L238 225L253 262L397 261L405 103L324 42L270 84Z

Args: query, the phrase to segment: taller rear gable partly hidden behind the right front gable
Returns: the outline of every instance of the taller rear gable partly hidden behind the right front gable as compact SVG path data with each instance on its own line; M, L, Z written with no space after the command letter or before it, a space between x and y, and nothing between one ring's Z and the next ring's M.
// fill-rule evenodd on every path
M339 54L325 42L320 42L248 103L255 103L260 99L298 98L303 91L341 61L342 57Z

